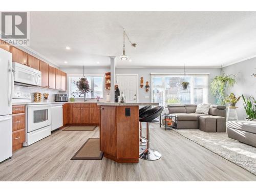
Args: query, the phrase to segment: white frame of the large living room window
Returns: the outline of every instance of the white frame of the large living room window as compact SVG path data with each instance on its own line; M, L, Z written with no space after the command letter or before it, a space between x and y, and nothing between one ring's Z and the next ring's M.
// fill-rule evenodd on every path
M186 73L186 75L207 75L208 78L207 78L207 92L206 92L206 97L207 97L207 102L209 102L209 74L210 73ZM154 75L159 75L159 76L169 76L169 75L184 75L184 73L150 73L150 76L151 76L151 88L153 88L153 81L152 81L152 76ZM194 92L194 83L193 83L193 92ZM192 95L192 94L191 94ZM190 95L190 97L192 97ZM153 102L153 89L151 89L151 102ZM194 102L194 93L193 93L193 98L192 98L193 102Z

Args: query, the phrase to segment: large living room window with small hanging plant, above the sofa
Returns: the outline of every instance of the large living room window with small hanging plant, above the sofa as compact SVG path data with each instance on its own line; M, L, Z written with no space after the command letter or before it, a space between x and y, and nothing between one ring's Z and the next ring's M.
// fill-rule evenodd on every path
M186 90L182 81L189 82ZM153 75L152 102L165 104L208 103L208 75Z

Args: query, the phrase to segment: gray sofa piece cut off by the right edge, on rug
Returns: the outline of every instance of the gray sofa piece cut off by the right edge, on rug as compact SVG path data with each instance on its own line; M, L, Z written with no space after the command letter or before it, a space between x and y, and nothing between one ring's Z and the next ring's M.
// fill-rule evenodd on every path
M227 121L227 135L256 147L256 121Z

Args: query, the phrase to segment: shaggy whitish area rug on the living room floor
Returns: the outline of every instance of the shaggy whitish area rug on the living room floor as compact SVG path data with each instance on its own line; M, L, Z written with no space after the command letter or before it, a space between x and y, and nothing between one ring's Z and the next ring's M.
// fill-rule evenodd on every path
M206 133L200 130L173 131L256 175L256 147L230 139L227 133Z

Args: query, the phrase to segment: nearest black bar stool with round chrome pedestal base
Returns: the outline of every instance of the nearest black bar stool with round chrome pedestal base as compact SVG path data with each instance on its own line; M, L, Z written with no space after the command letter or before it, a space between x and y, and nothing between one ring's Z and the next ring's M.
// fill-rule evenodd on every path
M162 157L162 155L156 151L150 148L150 126L149 123L156 123L159 122L160 120L157 119L163 111L164 107L163 106L156 106L153 109L147 110L144 112L142 115L143 117L140 118L140 122L146 122L146 149L140 153L140 158L145 159L145 160L157 160Z

